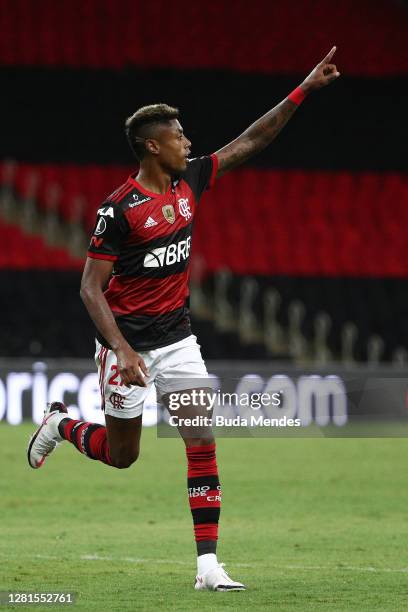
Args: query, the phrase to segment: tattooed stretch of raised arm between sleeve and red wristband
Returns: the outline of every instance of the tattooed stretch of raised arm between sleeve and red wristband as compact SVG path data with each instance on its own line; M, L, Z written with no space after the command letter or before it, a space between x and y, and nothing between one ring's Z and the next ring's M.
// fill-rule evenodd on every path
M250 125L241 136L217 151L218 176L265 149L287 124L296 109L297 105L294 102L283 100Z

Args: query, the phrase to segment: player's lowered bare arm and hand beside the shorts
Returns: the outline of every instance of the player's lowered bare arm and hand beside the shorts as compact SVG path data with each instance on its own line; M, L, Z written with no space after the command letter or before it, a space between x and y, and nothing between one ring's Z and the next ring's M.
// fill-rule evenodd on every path
M130 385L145 387L143 374L146 376L149 374L145 362L123 337L103 294L103 288L111 276L112 268L111 261L88 257L82 275L81 298L95 326L116 353L118 372L123 383L127 387Z

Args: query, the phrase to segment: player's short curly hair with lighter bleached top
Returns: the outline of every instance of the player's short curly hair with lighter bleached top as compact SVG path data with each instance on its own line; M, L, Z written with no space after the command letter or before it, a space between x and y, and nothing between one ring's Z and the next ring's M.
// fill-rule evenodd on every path
M141 161L146 154L145 139L151 137L150 128L159 123L168 123L178 119L179 109L168 104L150 104L142 106L126 119L125 133L130 148Z

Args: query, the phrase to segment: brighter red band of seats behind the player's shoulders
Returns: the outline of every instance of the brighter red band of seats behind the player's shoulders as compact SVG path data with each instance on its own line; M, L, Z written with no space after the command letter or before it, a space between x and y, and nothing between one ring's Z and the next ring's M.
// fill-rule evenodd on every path
M47 197L57 186L58 210L65 220L75 215L75 202L81 198L89 232L101 201L133 170L19 164L14 189L19 198L26 197L35 175L35 197L46 208ZM210 272L227 266L237 274L404 276L408 274L407 220L408 187L403 175L244 169L227 174L204 195L194 249ZM33 258L24 259L22 243L31 249L32 239L23 238L18 228L5 232L16 265L41 267L49 261L50 249L41 241L36 242ZM79 265L65 252L54 249L53 257L54 267Z

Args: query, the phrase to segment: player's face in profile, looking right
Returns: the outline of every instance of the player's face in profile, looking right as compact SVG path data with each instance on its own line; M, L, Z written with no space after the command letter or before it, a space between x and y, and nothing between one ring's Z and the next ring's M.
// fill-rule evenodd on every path
M183 172L187 168L191 142L184 135L180 122L173 119L169 125L162 126L157 141L161 165L172 174Z

